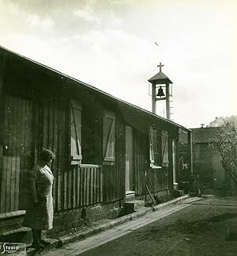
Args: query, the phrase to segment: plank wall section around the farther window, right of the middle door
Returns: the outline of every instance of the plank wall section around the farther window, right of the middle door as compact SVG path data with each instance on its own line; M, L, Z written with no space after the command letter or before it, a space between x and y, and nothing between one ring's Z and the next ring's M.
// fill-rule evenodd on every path
M156 127L156 125L155 125ZM172 159L172 148L171 140L177 139L177 132L171 131L169 127L159 127L157 125L158 137L156 147L159 149L160 155L160 168L152 168L150 166L150 152L149 152L149 135L140 131L134 131L134 181L135 191L137 196L145 195L148 191L145 185L149 187L152 193L160 193L166 191L171 193L173 189L173 159ZM168 163L164 164L162 161L164 155L164 146L162 145L161 131L167 131L167 159ZM177 140L176 140L177 143ZM175 152L176 156L178 152ZM176 159L177 160L177 159ZM176 170L178 170L178 162L175 162Z

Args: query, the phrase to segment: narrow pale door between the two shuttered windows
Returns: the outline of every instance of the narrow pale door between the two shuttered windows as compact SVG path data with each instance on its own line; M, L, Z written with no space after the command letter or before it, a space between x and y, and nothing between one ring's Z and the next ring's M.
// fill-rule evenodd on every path
M134 172L133 172L133 129L126 126L126 165L125 165L125 189L134 190Z

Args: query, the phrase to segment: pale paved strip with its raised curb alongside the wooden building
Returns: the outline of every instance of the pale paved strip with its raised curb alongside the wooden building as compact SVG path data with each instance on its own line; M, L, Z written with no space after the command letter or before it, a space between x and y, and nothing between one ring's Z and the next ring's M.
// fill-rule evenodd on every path
M107 243L110 239L116 239L119 236L126 235L127 232L133 231L134 228L139 228L155 220L159 220L164 216L179 211L181 208L187 207L189 205L188 203L198 200L201 200L201 198L189 198L188 196L178 197L174 200L167 201L164 204L158 204L150 208L142 208L140 211L122 216L115 220L107 220L106 223L95 225L88 228L86 231L78 231L73 234L64 235L58 239L49 239L51 245L43 250L40 255L73 255L73 251L77 252L77 254L80 254L80 251L83 252L85 250L89 250L94 246L99 246L100 243ZM179 204L180 202L185 202L186 204ZM159 212L157 212L158 210ZM70 243L72 244L66 246ZM74 250L69 249L71 246L74 247Z

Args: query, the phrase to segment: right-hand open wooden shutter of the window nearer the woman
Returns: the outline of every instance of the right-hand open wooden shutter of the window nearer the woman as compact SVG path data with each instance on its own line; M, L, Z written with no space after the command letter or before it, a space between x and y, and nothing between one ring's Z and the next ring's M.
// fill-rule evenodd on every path
M108 112L103 116L103 160L115 161L115 115Z

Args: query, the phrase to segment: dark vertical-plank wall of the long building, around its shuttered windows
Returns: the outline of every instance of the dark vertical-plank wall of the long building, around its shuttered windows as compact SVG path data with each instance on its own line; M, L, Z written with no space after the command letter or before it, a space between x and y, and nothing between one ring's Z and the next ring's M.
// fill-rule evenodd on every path
M125 127L124 113L116 101L102 97L70 79L45 71L28 61L8 55L5 72L2 71L3 92L1 115L1 212L24 209L27 192L27 171L38 159L43 147L55 152L51 165L55 175L55 212L86 208L97 204L120 202L125 197ZM14 75L13 75L14 74ZM0 88L1 89L1 88ZM115 114L115 161L104 162L99 155L92 165L72 165L70 159L70 101L76 99L84 108L92 107L98 113ZM102 114L101 114L102 115ZM102 116L100 120L103 121ZM134 117L131 113L131 117ZM172 189L171 124L157 120L156 127L167 131L169 165L150 168L149 127L152 121L143 119L136 109L133 126L134 189L144 195L148 183L154 192ZM161 125L162 123L162 125ZM135 123L136 124L136 123ZM99 138L100 141L103 139ZM160 139L161 141L161 139ZM98 146L98 145L97 145ZM96 147L97 147L96 146ZM102 153L103 148L98 146ZM160 144L160 147L161 144ZM160 158L161 159L161 158ZM162 159L161 159L162 160ZM14 188L14 189L12 189ZM120 203L119 203L120 204Z

